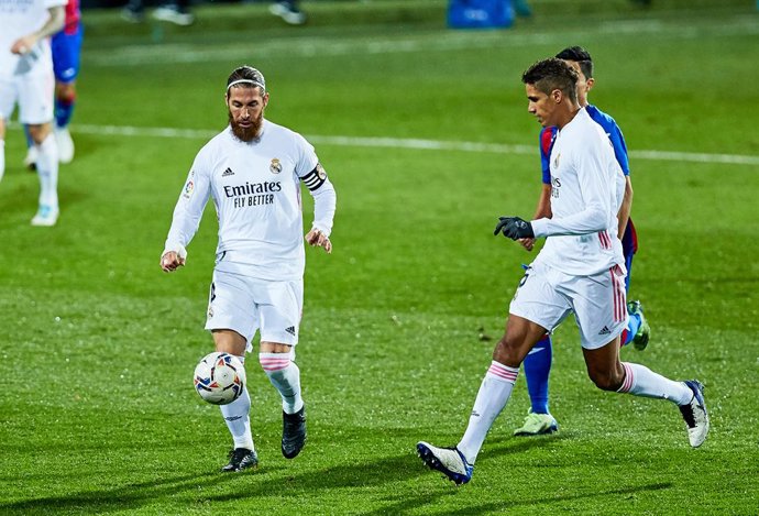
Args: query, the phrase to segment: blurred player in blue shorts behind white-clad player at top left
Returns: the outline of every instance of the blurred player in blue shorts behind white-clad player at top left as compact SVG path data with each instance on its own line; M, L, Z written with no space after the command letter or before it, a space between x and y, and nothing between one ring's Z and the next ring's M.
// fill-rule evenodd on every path
M74 160L74 141L68 132L68 123L76 103L76 78L79 75L79 55L81 53L81 11L79 0L68 0L64 30L51 40L53 53L53 72L55 74L55 127L53 134L58 143L58 161L70 163ZM24 165L36 168L37 151L34 141L24 125L29 151Z

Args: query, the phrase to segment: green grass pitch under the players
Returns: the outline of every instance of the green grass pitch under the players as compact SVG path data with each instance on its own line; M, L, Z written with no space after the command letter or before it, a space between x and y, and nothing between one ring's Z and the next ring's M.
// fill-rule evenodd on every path
M752 1L534 0L506 31L449 31L443 0L198 7L188 29L85 13L62 215L32 228L37 180L7 136L0 183L0 514L737 514L759 512L759 13ZM674 406L597 391L559 329L552 437L512 437L524 376L472 482L422 466L455 443L530 255L495 239L529 217L538 123L521 72L581 44L591 101L631 151L640 252L631 298L652 326L623 359L706 385L692 450ZM187 266L158 255L223 85L260 67L267 117L316 145L338 190L334 252L307 251L298 345L309 441L279 452L278 395L252 360L257 471L218 473L231 439L193 392L216 221ZM307 221L311 205L306 195ZM488 340L490 338L490 340Z

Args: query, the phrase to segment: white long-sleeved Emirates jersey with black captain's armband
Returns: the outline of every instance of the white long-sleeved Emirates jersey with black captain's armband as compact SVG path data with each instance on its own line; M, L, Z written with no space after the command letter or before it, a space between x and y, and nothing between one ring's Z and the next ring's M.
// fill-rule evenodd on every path
M329 235L336 195L314 147L268 120L250 143L228 127L196 156L165 249L178 251L190 242L211 197L219 220L217 270L299 279L305 266L301 180L315 198L314 228Z

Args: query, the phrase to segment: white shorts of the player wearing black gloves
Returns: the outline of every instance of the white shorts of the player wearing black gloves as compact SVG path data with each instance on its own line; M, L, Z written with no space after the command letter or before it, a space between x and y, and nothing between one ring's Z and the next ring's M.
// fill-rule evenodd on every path
M509 312L553 331L574 312L580 342L598 349L627 326L625 271L618 265L593 276L564 274L544 264L527 268Z

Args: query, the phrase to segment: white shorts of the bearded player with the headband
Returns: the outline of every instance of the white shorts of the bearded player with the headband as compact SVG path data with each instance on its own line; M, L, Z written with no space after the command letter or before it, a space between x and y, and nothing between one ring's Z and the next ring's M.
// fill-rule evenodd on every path
M258 330L262 341L295 345L302 306L302 279L268 282L215 270L206 329L237 331L248 351Z

